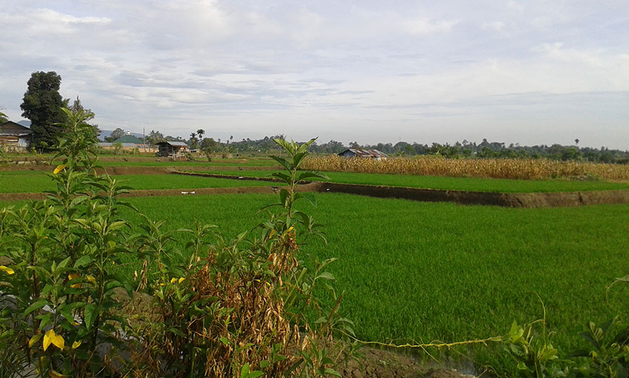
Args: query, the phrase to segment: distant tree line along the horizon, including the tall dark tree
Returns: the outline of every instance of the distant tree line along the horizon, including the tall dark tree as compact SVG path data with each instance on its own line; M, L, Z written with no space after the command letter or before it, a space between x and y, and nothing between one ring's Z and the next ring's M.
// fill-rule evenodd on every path
M83 110L88 115L86 121L93 119L94 113L89 109L84 109L81 100L77 96L72 105L69 105L69 98L62 98L59 93L61 86L61 77L56 72L33 72L27 82L27 91L24 93L22 100L22 117L26 117L31 121L31 130L33 131L33 146L38 151L49 150L56 142L56 138L61 131L60 124L63 124L67 117L61 111L62 107L70 108L70 110ZM0 115L0 123L6 122L8 119ZM100 134L97 124L92 124L95 135ZM123 129L115 129L111 135L103 138L102 141L113 142L121 136L124 136ZM190 133L190 138L185 139L180 136L164 136L161 131L152 130L145 137L148 145L156 145L163 141L179 141L190 145L192 149L199 149L206 153L214 152L270 152L277 149L274 143L275 138L284 139L284 135L265 136L261 139L243 138L241 141L234 141L234 137L230 136L225 141L220 138L214 139L206 137L204 129L197 129ZM629 163L629 151L610 150L606 147L601 148L580 148L579 140L574 140L574 145L534 145L525 146L519 143L511 143L505 145L501 142L489 142L483 139L481 143L463 141L456 142L453 145L449 143L440 144L432 143L431 145L422 143L407 143L400 141L398 143L377 143L375 145L360 145L356 141L347 145L339 141L329 141L326 143L312 143L309 151L313 153L338 153L343 152L347 148L365 148L374 149L384 152L387 155L394 156L413 156L413 155L439 155L449 158L461 157L479 157L479 158L547 158L560 160L583 160L589 162L605 162L605 163Z

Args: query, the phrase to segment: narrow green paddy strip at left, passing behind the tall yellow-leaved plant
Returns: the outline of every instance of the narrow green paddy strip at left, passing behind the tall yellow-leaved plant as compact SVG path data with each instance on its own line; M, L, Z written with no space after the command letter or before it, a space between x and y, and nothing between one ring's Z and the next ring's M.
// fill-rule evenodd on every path
M45 174L0 174L0 193L41 193L54 190L55 184ZM114 176L124 185L133 189L196 189L196 188L236 188L241 186L267 186L269 183L257 181L234 181L228 178L183 176L177 174L134 174Z

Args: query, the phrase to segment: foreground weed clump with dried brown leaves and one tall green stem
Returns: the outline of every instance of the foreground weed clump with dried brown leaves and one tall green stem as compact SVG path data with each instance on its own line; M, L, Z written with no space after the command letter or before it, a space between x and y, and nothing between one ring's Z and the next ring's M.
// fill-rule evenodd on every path
M156 311L135 329L143 341L143 352L133 358L135 370L147 377L339 375L333 367L357 344L331 338L335 328L352 332L351 322L338 315L340 296L329 285L333 275L323 271L334 259L313 260L306 268L298 256L308 237L323 237L320 225L293 209L301 198L314 200L296 193L295 186L321 177L298 173L313 141L276 140L290 157L273 157L286 169L275 176L287 186L279 203L271 205L280 210L259 226L257 236L242 233L225 240L216 235L209 245L204 241L211 235L208 226L184 230L194 235L187 245L194 247L192 259L176 273L162 270L154 282ZM331 292L332 306L315 298L318 286ZM308 310L318 316L311 320Z

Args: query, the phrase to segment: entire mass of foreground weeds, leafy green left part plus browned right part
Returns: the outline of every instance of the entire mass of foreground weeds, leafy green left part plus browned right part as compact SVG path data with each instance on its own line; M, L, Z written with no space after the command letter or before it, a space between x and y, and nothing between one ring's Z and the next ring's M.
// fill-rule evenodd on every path
M351 323L338 315L333 275L322 270L333 259L305 268L298 256L307 237L323 235L293 210L300 198L313 200L295 192L317 176L297 176L312 141L277 141L292 159L275 157L288 186L257 237L226 240L197 223L181 230L189 241L178 251L164 221L145 217L131 234L119 214L129 206L119 200L127 188L96 171L91 113L64 112L60 164L49 175L56 190L0 210L2 376L338 375L333 366L352 348L331 353L331 334L335 327L351 332ZM126 254L144 261L135 282L115 273ZM333 294L331 306L313 296L319 285ZM154 312L131 314L128 325L121 290L148 291ZM318 317L307 317L308 309ZM131 360L120 358L128 353Z

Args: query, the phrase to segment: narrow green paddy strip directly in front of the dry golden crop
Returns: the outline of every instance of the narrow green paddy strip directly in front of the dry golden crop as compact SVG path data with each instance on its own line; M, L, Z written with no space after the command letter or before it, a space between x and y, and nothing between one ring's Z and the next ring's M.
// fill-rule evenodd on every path
M213 174L267 177L269 171L212 171ZM506 178L465 178L446 176L418 176L402 174L360 174L350 172L323 172L335 183L364 185L404 186L441 190L470 190L498 193L580 192L586 190L629 189L629 183L609 181L569 180L510 180Z

